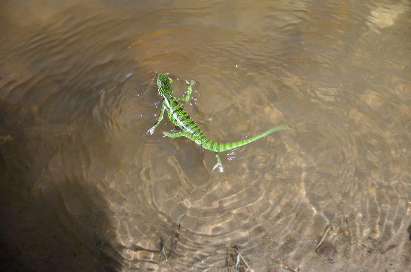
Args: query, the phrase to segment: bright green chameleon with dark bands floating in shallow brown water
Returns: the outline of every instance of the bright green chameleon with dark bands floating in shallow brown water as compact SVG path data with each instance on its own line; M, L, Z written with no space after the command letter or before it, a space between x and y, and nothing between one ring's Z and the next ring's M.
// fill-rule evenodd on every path
M150 133L150 135L154 133L160 121L163 119L164 110L167 110L167 113L169 114L169 119L172 121L173 124L175 124L177 127L181 129L181 132L163 132L163 134L171 138L177 138L182 136L187 137L195 143L201 145L204 149L215 152L217 164L214 166L213 171L217 167L220 172L224 171L218 152L223 152L226 150L241 147L241 145L245 145L247 143L255 141L275 131L290 129L288 125L282 124L277 125L276 127L271 128L268 131L260 133L254 137L240 140L237 142L214 142L207 138L207 136L204 135L204 133L202 133L202 131L198 128L197 124L193 121L193 119L190 118L190 116L181 108L180 104L177 102L189 101L192 92L192 86L194 85L195 81L191 80L191 82L189 82L185 80L185 83L188 85L188 87L187 94L184 98L174 97L172 82L173 80L170 77L165 76L164 74L159 74L157 77L158 93L161 97L163 97L163 101L161 104L161 111L160 115L158 116L158 120L153 125L153 127L147 131L147 133Z

